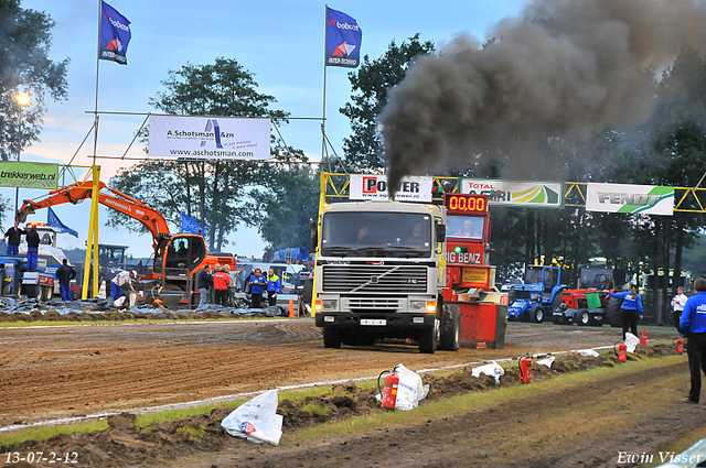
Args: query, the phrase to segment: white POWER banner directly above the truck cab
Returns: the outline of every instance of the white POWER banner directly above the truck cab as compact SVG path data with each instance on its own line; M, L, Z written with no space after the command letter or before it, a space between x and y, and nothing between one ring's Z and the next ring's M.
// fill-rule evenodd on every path
M431 202L434 177L403 177L395 199L399 202ZM351 174L350 196L352 200L387 199L386 175Z

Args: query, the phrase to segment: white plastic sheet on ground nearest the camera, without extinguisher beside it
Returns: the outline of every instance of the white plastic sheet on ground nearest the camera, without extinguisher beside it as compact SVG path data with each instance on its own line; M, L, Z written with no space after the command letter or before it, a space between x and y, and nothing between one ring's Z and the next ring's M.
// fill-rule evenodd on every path
M233 410L221 425L232 436L277 445L282 436L282 416L276 412L277 390L270 390Z

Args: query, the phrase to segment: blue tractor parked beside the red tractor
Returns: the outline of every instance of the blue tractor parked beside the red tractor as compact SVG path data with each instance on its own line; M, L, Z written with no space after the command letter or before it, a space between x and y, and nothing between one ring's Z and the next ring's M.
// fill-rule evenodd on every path
M510 291L507 317L537 324L552 318L554 307L561 304L561 291L568 289L560 282L561 269L557 266L526 266L524 283Z

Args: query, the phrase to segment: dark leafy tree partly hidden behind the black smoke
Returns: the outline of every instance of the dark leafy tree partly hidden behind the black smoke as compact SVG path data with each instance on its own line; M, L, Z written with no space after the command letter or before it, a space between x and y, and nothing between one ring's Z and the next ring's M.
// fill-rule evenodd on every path
M371 61L365 55L357 72L349 74L352 102L340 111L351 120L352 134L343 141L345 162L351 168L364 172L384 166L377 116L387 104L387 92L405 78L415 57L434 50L434 43L421 42L417 33L399 45L391 42L379 58Z

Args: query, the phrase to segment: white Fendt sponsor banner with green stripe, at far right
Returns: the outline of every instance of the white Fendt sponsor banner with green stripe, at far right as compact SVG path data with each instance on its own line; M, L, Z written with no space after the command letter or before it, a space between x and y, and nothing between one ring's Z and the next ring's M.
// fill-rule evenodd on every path
M586 210L672 216L674 187L589 183L586 184Z

